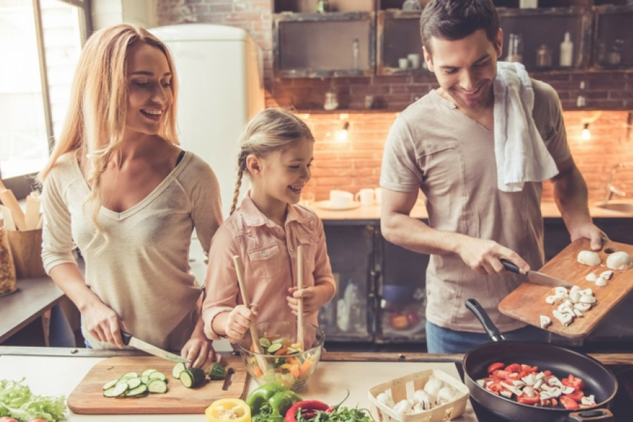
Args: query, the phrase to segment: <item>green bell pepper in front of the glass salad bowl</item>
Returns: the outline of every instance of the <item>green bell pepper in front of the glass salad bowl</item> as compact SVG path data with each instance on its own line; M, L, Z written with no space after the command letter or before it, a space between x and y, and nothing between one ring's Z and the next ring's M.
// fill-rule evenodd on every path
M300 395L281 383L267 383L252 390L246 397L252 422L283 422L290 407L301 400Z

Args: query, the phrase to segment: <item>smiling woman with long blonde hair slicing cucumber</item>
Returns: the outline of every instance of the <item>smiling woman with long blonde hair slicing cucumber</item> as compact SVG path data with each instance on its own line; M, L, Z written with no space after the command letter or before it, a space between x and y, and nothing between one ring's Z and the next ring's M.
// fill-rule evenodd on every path
M178 146L176 96L170 52L152 34L122 24L90 37L39 174L42 260L81 312L89 347L124 347L125 330L204 366L215 351L188 252L193 229L208 250L222 212L214 172Z

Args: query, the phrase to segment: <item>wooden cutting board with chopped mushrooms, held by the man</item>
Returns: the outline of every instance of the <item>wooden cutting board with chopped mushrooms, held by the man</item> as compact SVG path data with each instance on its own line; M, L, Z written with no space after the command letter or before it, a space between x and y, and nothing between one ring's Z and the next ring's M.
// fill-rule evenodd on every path
M558 304L549 305L545 302L547 296L554 294L554 288L528 282L521 284L504 300L501 300L499 311L537 327L540 326L540 315L549 316L551 325L546 330L568 338L582 338L591 333L604 316L633 289L633 269L614 270L613 277L607 281L607 286L604 287L596 286L595 283L587 281L585 276L591 272L600 276L602 271L608 269L606 267L608 252L623 250L633 257L633 245L606 241L602 250L598 252L601 264L596 267L589 267L577 261L578 252L581 250L591 250L589 240L579 239L571 243L547 262L542 269L539 269L539 272L569 281L580 288L593 290L597 303L592 309L584 312L582 317L577 317L570 325L563 326L551 314L558 307Z

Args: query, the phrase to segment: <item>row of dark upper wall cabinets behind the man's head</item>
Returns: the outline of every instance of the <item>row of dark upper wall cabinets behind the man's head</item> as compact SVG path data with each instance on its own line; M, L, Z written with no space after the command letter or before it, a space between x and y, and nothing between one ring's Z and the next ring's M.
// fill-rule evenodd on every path
M376 9L350 6L346 12L274 14L275 72L280 77L426 75L420 40L421 11L402 10L403 1L378 1ZM520 35L520 62L529 72L573 72L633 66L633 5L592 6L586 1L549 2L539 8L499 7L508 60L511 35ZM565 6L565 7L561 7ZM350 11L362 10L362 11ZM571 63L561 62L569 34ZM358 53L355 53L358 49ZM419 58L409 58L419 54ZM545 58L545 59L544 59ZM511 59L514 60L514 59ZM419 65L411 65L418 62Z

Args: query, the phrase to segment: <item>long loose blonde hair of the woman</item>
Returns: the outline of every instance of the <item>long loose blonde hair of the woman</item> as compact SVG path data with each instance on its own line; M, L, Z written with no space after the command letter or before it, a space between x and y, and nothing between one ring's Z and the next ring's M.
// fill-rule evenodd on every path
M120 146L125 131L128 51L138 42L155 46L167 58L174 100L158 135L170 143L179 144L176 134L177 77L170 51L160 39L142 27L127 23L113 25L94 32L82 49L64 126L49 162L38 174L39 181L44 181L61 155L75 152L91 188L86 203L93 205L95 236L103 234L97 220L103 204L101 174L106 170L115 148Z

